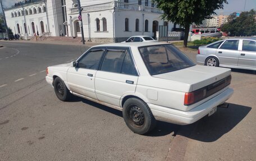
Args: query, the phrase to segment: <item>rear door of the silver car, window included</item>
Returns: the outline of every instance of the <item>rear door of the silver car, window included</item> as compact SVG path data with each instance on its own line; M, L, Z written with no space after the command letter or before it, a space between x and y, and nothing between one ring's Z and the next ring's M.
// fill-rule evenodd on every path
M216 50L216 56L220 59L221 65L237 66L239 57L238 45L239 40L226 40Z

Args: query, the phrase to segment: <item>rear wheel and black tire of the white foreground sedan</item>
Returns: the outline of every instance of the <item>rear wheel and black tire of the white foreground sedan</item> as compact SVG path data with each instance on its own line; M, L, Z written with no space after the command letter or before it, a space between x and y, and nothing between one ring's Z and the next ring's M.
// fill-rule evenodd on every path
M143 100L127 99L122 114L126 125L136 134L146 134L156 126L156 119Z

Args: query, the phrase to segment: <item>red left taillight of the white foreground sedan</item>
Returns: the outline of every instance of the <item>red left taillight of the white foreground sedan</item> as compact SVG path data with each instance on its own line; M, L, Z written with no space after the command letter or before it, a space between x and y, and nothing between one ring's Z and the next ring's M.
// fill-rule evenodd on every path
M190 93L185 93L184 105L190 105L204 99L207 88L201 88Z

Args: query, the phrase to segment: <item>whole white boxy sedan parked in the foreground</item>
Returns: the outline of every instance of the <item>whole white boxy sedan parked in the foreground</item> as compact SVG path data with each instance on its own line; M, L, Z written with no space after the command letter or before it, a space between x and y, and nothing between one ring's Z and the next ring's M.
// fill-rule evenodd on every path
M172 44L97 45L75 62L47 68L58 99L77 95L122 111L137 134L156 120L187 125L216 112L233 93L231 71L195 65Z

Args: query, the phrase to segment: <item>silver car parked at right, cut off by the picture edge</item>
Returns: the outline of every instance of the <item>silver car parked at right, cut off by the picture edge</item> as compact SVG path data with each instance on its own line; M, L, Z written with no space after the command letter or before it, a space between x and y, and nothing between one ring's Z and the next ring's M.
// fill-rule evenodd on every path
M201 46L196 62L205 66L256 70L256 39L226 39Z

